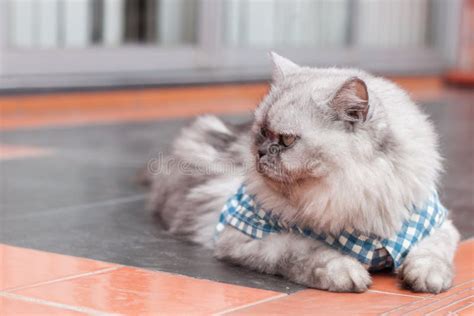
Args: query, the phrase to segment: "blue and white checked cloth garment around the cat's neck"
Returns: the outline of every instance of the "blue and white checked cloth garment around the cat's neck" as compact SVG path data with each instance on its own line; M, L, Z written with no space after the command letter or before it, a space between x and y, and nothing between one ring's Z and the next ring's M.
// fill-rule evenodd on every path
M411 216L391 238L365 236L355 230L344 230L338 236L332 236L296 225L285 225L277 216L272 215L271 210L263 210L256 202L255 196L247 194L245 186L242 185L223 207L216 234L222 232L226 225L254 239L262 239L273 233L294 233L322 241L356 258L371 270L397 269L410 249L443 223L446 214L447 210L434 192L425 205L420 208L413 207Z

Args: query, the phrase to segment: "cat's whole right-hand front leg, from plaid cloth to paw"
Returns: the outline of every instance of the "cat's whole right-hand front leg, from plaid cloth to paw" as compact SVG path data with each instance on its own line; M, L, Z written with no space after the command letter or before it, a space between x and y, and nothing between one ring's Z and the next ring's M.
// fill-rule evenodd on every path
M451 287L459 233L450 220L409 253L399 271L403 285L416 292L440 293Z

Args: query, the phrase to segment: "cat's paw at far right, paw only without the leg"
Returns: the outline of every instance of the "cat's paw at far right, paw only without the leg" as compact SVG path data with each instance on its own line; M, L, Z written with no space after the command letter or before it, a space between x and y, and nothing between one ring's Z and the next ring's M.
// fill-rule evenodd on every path
M448 260L436 256L409 256L400 270L400 279L415 292L440 293L451 287L453 268Z

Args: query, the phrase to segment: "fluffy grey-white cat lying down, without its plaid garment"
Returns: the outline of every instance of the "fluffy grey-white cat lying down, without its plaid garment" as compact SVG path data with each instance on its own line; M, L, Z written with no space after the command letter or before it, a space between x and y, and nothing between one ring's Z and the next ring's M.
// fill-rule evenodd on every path
M312 288L366 291L367 265L323 240L289 230L253 238L237 225L217 233L223 206L245 184L262 210L289 226L390 238L412 216L409 206L422 205L436 188L436 132L386 79L270 55L271 88L253 122L202 116L184 128L166 172L153 175L148 207L169 232L213 248L218 259ZM458 241L446 218L395 269L402 284L447 290Z

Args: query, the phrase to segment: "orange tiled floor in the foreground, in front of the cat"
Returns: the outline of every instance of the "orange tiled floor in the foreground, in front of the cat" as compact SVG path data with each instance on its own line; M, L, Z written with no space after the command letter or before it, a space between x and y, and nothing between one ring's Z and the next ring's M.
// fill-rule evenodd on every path
M375 275L363 294L287 295L0 245L0 314L474 315L473 253L464 241L454 286L438 295L402 290L392 275Z

